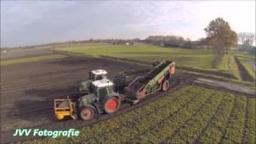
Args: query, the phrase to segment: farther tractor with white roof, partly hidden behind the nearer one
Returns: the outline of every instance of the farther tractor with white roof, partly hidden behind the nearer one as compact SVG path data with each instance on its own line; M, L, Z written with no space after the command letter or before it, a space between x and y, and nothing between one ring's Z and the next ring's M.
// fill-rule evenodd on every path
M80 94L89 94L91 82L106 78L106 70L92 70L89 73L89 79L78 83L77 90Z

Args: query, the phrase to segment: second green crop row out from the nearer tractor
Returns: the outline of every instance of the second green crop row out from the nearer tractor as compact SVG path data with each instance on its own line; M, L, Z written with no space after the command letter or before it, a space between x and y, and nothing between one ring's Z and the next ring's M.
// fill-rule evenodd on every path
M194 97L193 94L188 94L186 97L182 97L182 94L174 94L174 96L178 96L178 98L170 99L172 104L166 105L162 109L151 109L151 113L146 115L146 117L134 118L134 122L130 125L122 125L122 128L114 130L112 133L104 134L103 137L98 138L98 142L113 143L130 141L130 138L133 138L142 131L147 130L149 126L152 126L152 124L162 121L162 119L168 117L168 115L173 114L186 102L190 102L191 98ZM155 104L158 105L158 103Z

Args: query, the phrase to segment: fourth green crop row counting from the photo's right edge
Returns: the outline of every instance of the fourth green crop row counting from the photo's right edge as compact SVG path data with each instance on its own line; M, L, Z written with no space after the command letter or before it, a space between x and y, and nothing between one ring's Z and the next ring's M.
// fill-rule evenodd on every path
M222 98L222 94L219 93L210 97L210 102L205 103L202 109L198 110L198 113L192 116L192 118L182 126L182 129L171 138L170 142L176 143L182 139L186 143L192 143L194 140L197 140L203 128L207 126L210 118L216 113L216 110L218 110Z

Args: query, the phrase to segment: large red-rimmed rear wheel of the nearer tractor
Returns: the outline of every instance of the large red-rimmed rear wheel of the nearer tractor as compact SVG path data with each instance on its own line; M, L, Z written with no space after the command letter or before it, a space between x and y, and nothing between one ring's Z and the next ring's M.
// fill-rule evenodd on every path
M118 98L111 97L106 100L104 104L104 110L107 114L111 114L118 111L120 105L121 105L121 102L119 101Z

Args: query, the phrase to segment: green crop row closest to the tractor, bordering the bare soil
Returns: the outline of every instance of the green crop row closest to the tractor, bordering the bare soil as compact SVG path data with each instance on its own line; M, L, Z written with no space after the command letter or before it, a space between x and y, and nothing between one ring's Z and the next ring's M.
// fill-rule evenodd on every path
M192 86L185 86L182 87L182 90L176 90L173 94L168 94L166 97L159 98L156 102L150 102L146 106L142 106L136 110L132 110L127 114L122 114L118 117L111 118L109 120L99 122L94 124L93 126L86 126L81 131L82 134L80 137L72 137L72 138L46 138L43 141L34 140L29 143L62 143L62 142L96 142L98 139L99 134L104 135L110 133L113 130L118 130L122 128L122 126L133 122L134 119L142 118L146 114L154 113L154 110L158 109L159 107L165 107L166 105L170 105L171 102L177 101L181 98L182 95L186 95L190 93L190 88ZM186 97L184 97L186 98ZM181 98L182 99L182 98Z

